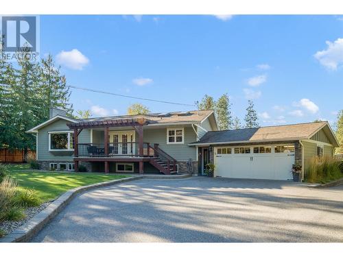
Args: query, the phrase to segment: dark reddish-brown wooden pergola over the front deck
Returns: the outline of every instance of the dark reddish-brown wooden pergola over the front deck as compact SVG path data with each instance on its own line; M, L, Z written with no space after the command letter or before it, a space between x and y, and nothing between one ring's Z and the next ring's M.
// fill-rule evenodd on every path
M74 131L74 157L78 157L78 136L83 129L104 128L104 155L108 156L108 131L110 127L133 127L139 134L139 173L143 173L143 125L147 125L146 119L139 118L123 118L123 119L108 119L99 121L80 121L78 123L67 123L67 126ZM109 173L110 158L104 158L105 172ZM74 160L75 171L78 171L79 160Z

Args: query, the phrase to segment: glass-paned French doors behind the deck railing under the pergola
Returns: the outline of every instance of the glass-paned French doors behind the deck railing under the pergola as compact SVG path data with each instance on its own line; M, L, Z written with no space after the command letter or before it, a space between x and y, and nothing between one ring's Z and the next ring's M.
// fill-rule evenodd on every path
M109 132L111 155L134 155L134 131Z

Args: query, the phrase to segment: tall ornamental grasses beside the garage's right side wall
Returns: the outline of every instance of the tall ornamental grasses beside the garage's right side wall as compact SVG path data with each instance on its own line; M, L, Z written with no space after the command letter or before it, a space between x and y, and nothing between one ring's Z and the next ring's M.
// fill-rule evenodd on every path
M305 173L306 182L325 183L341 178L340 162L330 156L313 157Z

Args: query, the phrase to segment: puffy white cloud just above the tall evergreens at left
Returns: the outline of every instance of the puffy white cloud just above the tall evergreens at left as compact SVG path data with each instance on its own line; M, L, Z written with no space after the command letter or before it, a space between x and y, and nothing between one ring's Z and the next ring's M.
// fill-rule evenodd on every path
M58 64L68 67L69 69L82 70L89 63L88 58L78 49L71 51L60 51L56 56Z

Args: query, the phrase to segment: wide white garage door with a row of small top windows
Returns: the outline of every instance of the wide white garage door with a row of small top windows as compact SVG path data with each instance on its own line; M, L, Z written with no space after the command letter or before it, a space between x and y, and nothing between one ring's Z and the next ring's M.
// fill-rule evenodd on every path
M294 145L215 147L215 176L292 180Z

